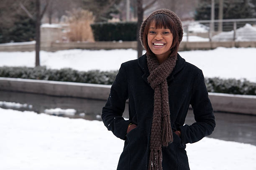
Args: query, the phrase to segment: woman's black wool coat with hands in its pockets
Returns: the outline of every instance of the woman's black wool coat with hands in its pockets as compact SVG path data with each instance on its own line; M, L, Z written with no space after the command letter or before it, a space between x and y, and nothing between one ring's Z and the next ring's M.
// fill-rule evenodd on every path
M154 90L148 84L148 75L146 55L124 62L102 109L104 125L116 137L125 140L117 170L148 169L154 110ZM202 70L186 62L179 54L173 72L167 77L167 84L172 130L180 130L181 137L173 133L173 143L162 147L162 167L163 170L189 170L186 144L195 143L213 132L212 105ZM129 120L124 120L122 115L127 99ZM193 108L195 123L184 125L189 104ZM136 124L137 128L126 134L130 123Z

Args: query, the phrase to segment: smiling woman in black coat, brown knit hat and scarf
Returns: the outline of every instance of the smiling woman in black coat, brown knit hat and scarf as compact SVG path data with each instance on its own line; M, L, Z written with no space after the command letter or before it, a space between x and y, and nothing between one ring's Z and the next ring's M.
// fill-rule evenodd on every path
M215 128L202 70L177 53L182 36L177 15L156 10L141 25L146 54L120 67L102 109L105 126L125 140L118 170L189 170L186 144ZM189 104L196 122L184 125Z

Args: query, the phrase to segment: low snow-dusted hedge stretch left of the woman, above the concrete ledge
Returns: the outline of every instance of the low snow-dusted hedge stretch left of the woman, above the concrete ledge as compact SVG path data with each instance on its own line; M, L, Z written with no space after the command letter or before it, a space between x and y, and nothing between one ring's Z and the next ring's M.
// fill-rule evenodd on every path
M53 80L67 82L85 82L110 85L115 80L117 71L77 71L71 68L60 70L46 67L0 67L0 77Z

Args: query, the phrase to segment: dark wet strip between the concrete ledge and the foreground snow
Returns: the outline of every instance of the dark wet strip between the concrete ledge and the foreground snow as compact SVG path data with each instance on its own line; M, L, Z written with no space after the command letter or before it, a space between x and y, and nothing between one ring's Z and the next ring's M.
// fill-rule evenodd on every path
M59 114L58 116L70 118L83 118L86 120L101 120L102 107L106 101L90 100L73 97L53 97L48 95L36 95L21 92L0 91L0 101L16 102L28 104L20 108L8 105L0 105L5 109L30 110L37 113L44 112L45 109L75 109L74 115ZM29 107L32 105L32 107ZM83 113L83 114L81 114ZM240 143L250 143L256 145L256 116L232 114L223 112L214 112L216 128L209 136L227 141L236 141ZM124 117L128 117L128 104L126 104ZM193 110L189 110L185 123L191 125L194 120Z

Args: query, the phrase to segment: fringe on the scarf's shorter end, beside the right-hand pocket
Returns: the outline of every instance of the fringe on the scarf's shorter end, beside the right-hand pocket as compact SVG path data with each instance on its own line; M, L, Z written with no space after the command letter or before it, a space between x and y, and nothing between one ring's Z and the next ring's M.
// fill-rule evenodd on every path
M169 143L173 142L172 128L170 123L169 115L164 116L162 119L162 142L163 146L168 146Z

